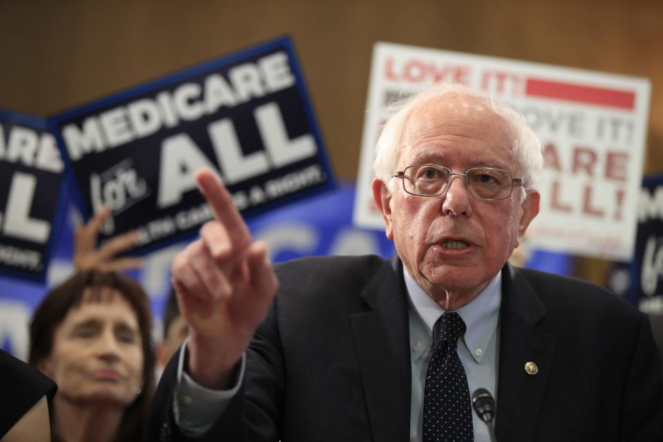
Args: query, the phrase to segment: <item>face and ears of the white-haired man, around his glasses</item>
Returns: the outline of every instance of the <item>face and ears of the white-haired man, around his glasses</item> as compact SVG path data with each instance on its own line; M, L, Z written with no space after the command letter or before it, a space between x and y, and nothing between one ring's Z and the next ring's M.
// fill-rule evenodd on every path
M514 177L521 173L506 123L472 97L450 94L414 108L403 140L398 171L432 163L454 173L481 166ZM521 186L506 200L485 201L473 198L457 175L437 197L410 195L400 178L392 180L393 192L374 182L387 237L412 278L448 309L465 305L486 287L538 212L536 192L520 204Z

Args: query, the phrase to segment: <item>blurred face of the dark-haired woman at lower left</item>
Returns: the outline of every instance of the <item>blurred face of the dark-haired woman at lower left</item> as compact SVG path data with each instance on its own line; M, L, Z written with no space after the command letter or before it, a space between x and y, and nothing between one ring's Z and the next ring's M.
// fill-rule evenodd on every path
M96 289L99 290L99 289ZM70 401L128 406L142 385L143 349L136 314L116 289L83 300L55 329L53 347L39 368Z

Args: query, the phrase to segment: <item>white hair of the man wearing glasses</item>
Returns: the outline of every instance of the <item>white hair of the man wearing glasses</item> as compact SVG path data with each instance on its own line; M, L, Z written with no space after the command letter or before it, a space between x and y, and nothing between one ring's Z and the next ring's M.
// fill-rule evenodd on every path
M405 126L407 126L412 109L447 94L465 95L478 99L495 115L503 119L510 129L511 153L521 170L523 186L527 190L535 189L544 160L539 139L527 124L525 117L514 111L508 104L494 99L492 95L461 84L450 83L436 84L416 95L398 99L387 107L387 111L392 116L385 122L376 143L373 162L375 176L387 184L389 189L392 189L389 184L398 166L398 158L405 147Z

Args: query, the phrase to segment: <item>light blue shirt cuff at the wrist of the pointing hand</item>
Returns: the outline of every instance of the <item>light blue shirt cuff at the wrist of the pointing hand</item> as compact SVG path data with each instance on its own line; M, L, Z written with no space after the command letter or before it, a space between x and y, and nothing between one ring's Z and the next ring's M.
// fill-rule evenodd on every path
M215 423L237 394L244 380L247 356L242 354L239 370L233 376L233 386L229 390L211 390L193 381L186 373L186 344L182 343L180 359L177 361L177 385L173 398L175 423L182 433L190 437L202 436Z

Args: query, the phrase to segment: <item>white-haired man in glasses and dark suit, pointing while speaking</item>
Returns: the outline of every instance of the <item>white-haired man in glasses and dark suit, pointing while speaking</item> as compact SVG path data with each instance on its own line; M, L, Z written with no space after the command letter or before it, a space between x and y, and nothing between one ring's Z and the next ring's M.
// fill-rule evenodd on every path
M400 104L373 193L391 260L271 266L229 193L173 262L190 336L150 440L661 441L660 358L644 314L507 259L539 211L541 148L521 115L463 86Z

